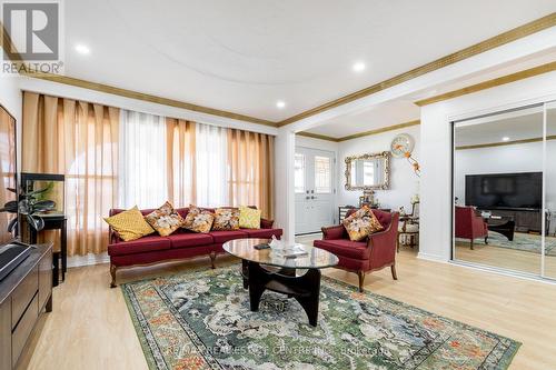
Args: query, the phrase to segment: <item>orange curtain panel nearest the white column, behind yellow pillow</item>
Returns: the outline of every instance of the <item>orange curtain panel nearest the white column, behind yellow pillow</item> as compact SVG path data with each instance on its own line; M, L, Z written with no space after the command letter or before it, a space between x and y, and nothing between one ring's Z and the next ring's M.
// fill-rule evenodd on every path
M228 190L231 206L257 206L274 217L274 137L228 130Z

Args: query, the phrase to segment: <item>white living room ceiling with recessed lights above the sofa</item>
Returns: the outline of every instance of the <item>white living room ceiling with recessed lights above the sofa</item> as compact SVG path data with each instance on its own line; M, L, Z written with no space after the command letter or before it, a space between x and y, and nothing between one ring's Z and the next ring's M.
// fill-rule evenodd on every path
M71 0L64 10L66 74L278 121L552 13L556 2ZM77 43L91 53L78 54ZM355 73L356 61L367 69Z

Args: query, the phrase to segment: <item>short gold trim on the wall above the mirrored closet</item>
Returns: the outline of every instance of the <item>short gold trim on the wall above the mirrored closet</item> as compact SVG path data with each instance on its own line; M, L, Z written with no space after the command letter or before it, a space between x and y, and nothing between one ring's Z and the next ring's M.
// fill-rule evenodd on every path
M471 84L471 86L468 86L468 87L463 88L463 89L441 93L441 94L436 96L436 97L423 99L423 100L416 101L415 103L419 107L424 107L424 106L433 104L433 103L436 103L439 101L449 100L449 99L454 99L457 97L466 96L468 93L474 93L477 91L495 88L495 87L498 87L502 84L524 80L524 79L535 77L538 74L553 72L555 70L556 70L556 62L550 62L550 63L542 64L542 66L534 67L530 69L526 69L526 70L519 71L519 72L515 72L512 74L498 77L496 79L492 79L488 81Z

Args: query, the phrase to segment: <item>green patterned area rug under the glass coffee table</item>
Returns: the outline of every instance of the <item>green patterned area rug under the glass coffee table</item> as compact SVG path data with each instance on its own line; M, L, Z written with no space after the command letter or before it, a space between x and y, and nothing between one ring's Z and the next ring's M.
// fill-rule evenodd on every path
M322 278L317 328L238 266L122 286L150 369L507 369L520 343Z

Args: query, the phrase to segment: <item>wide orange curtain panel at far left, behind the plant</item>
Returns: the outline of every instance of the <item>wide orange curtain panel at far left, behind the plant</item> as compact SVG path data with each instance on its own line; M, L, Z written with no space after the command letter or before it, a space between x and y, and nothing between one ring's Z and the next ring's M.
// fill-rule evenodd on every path
M66 176L68 254L107 250L117 203L119 109L23 93L22 171Z

